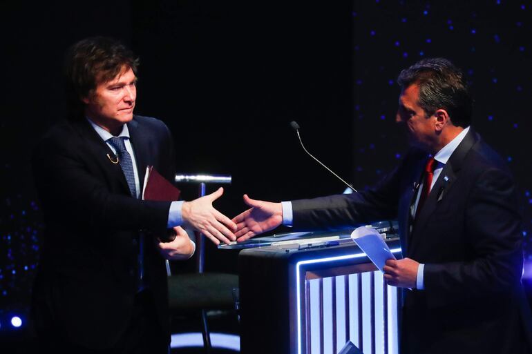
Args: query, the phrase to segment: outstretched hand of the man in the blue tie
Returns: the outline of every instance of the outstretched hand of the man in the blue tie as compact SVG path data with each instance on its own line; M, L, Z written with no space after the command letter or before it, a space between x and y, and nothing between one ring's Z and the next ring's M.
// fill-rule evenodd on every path
M182 206L181 215L185 222L198 230L203 235L209 237L214 244L234 241L236 236L236 224L218 210L212 203L223 194L223 188L220 187L216 192L205 197L185 201Z

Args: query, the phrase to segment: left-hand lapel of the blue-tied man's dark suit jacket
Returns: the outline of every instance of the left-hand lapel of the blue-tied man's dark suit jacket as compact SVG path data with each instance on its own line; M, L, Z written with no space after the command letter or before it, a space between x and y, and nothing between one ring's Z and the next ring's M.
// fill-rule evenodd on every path
M108 179L114 179L119 181L122 185L124 192L127 195L130 194L129 186L122 171L120 164L113 164L110 157L114 157L113 150L107 146L105 141L98 135L98 133L93 129L90 123L86 119L80 119L79 121L74 121L73 126L79 132L82 139L86 141L86 148L91 150L92 156L95 159L97 165L102 168L104 175Z

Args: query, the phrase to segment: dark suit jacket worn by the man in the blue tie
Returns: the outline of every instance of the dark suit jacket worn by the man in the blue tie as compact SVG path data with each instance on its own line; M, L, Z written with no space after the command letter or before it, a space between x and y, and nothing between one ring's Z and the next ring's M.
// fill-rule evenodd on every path
M171 133L158 119L128 124L141 190L147 165L173 181ZM137 292L141 230L165 232L169 202L129 194L119 164L86 119L52 128L35 148L33 170L46 230L33 290L37 331L66 335L75 344L108 348L131 318ZM169 338L164 259L147 240L145 275Z

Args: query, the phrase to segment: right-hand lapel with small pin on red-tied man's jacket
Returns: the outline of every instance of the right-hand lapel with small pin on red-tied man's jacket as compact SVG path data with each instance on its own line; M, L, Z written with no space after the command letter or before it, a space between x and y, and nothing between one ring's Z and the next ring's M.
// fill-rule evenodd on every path
M447 164L445 164L444 168L441 170L435 185L430 190L425 205L414 221L413 233L410 236L408 245L409 255L412 255L417 242L422 238L421 235L423 233L421 230L424 230L430 217L437 211L438 206L444 201L450 188L453 187L453 184L455 184L455 181L459 178L459 170L462 168L464 159L477 139L477 135L470 128L462 142L457 146L453 154L450 155Z

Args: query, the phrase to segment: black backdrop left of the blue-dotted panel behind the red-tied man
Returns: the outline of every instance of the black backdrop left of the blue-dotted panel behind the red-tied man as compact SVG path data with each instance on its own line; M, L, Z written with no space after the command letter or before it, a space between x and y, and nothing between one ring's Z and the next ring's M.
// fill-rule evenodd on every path
M167 123L179 172L232 175L215 203L222 213L245 210L244 193L277 201L341 193L341 182L301 150L292 120L307 148L351 177L351 3L86 4L0 2L0 339L23 333L8 324L12 315L27 323L43 230L30 153L65 115L61 61L79 39L117 37L140 56L135 112ZM185 199L196 197L196 188L180 187ZM207 271L236 272L236 252L207 245Z

